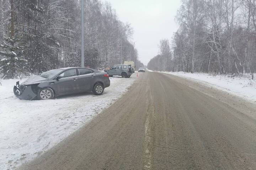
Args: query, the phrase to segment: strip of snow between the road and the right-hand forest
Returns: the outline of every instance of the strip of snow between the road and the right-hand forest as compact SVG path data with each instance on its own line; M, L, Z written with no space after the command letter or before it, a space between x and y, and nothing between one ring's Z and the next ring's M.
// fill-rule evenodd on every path
M186 77L201 83L214 86L217 89L227 91L251 102L256 102L256 81L251 80L250 75L231 77L231 75L213 75L206 73L163 72Z

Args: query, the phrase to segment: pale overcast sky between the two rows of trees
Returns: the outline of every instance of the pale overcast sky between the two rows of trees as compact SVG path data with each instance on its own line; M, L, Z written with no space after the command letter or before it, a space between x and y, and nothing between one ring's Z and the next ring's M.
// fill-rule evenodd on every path
M169 39L178 26L174 20L180 0L107 0L116 10L118 18L130 23L134 29L133 41L139 59L148 64L159 52L161 39Z

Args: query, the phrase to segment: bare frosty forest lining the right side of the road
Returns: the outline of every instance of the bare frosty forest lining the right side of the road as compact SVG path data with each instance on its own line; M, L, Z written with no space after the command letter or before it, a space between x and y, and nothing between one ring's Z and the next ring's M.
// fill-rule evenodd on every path
M159 55L151 59L149 69L248 73L254 78L255 0L182 0L176 22L179 29L171 45L169 40L160 41Z

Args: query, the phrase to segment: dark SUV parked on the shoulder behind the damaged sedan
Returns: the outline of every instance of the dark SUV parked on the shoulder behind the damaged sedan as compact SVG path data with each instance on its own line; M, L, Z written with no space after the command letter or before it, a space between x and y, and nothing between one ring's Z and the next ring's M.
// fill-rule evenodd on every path
M132 66L128 64L114 65L111 69L104 70L110 77L113 75L121 75L122 77L129 78L132 74Z

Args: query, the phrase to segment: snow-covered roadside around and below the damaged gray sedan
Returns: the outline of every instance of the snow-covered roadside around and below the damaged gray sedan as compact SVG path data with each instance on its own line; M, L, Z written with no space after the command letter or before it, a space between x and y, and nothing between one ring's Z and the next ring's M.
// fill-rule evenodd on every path
M48 101L20 100L12 90L18 80L1 80L0 169L15 169L47 151L109 107L135 79L110 78L101 96L88 92Z

